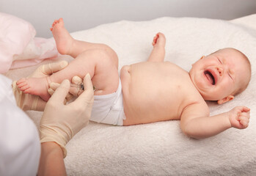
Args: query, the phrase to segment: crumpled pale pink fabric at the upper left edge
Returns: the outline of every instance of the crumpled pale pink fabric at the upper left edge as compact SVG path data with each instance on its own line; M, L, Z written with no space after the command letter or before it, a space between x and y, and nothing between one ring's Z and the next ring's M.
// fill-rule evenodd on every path
M57 56L54 39L34 37L28 21L0 12L0 73Z

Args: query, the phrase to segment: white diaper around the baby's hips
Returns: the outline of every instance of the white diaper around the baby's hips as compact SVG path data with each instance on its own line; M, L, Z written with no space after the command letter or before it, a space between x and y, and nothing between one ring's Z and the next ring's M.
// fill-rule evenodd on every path
M122 126L125 120L125 112L122 105L122 84L119 80L117 92L109 95L95 95L92 106L92 117L94 122Z

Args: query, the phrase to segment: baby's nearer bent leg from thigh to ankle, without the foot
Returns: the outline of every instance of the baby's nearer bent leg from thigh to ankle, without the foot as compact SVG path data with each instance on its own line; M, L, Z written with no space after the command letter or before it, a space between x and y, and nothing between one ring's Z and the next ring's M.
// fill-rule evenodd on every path
M61 82L63 78L70 81L73 76L89 73L95 87L95 95L106 95L117 90L119 83L117 56L102 49L91 49L79 54L65 69L50 76L52 82Z

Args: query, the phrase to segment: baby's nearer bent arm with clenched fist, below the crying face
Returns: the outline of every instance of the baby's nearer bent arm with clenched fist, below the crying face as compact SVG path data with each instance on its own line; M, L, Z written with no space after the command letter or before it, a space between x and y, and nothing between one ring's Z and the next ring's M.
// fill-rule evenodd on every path
M207 111L199 104L188 106L180 119L180 127L187 136L202 139L214 136L228 128L247 128L249 108L237 106L234 109L209 117Z

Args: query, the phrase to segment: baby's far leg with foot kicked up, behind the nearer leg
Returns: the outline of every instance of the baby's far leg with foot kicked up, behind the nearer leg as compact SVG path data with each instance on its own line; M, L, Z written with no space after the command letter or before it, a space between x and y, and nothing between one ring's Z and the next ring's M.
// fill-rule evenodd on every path
M73 58L76 58L84 51L91 49L103 49L110 55L116 55L108 45L75 40L73 37L71 37L69 32L67 32L67 29L65 29L64 21L62 18L54 21L52 24L51 32L54 35L56 47L60 54L67 54L73 56Z

